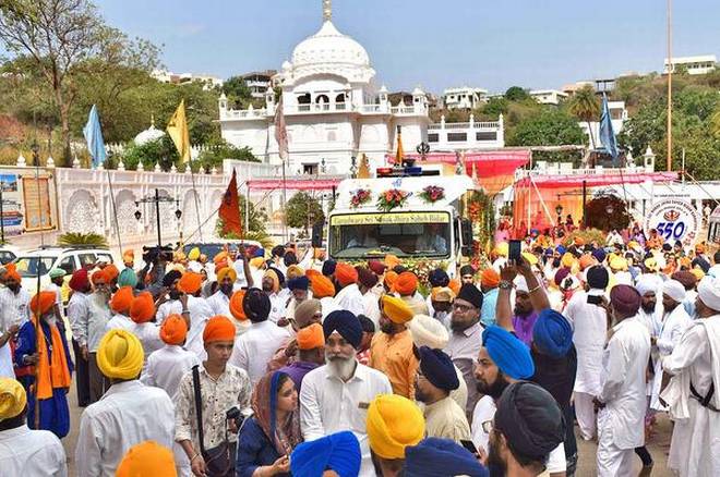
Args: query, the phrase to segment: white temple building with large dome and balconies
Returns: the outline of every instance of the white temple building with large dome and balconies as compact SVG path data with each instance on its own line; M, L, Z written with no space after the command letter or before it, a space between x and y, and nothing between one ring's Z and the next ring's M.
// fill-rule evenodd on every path
M387 88L375 83L365 49L333 24L329 0L323 1L320 30L295 48L276 80L287 125L288 174L347 174L351 158L362 155L371 168L383 166L385 156L397 148L397 126L401 126L408 152L429 140L431 120L424 91L416 88L411 103L391 103ZM263 162L280 163L272 90L262 109L228 109L225 96L218 106L223 138L237 147L250 147ZM502 123L497 124L501 132L495 140L484 143L485 148L504 146ZM476 136L472 144L457 146L478 147Z

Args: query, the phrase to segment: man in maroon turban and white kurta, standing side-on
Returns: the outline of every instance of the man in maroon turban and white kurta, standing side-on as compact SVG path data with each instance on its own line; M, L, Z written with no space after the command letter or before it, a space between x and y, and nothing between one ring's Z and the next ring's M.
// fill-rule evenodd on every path
M645 443L646 371L650 333L637 318L640 294L615 285L610 307L616 325L602 356L598 411L598 477L628 476L635 448Z

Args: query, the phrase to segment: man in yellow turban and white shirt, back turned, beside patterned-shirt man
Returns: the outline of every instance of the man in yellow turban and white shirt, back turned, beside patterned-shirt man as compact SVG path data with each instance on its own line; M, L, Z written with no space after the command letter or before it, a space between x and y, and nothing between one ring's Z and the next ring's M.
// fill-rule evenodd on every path
M133 333L110 330L100 340L97 366L110 388L82 414L77 475L115 475L130 448L146 440L172 448L175 404L164 390L137 380L143 362L143 345Z

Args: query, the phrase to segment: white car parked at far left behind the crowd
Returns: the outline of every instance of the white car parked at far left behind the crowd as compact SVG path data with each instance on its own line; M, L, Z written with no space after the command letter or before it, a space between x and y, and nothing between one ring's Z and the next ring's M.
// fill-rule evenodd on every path
M40 276L40 289L50 283L48 274L52 268L62 268L68 273L65 284L70 276L86 266L93 266L97 261L112 264L112 254L107 248L89 247L58 247L48 246L34 250L23 252L15 258L17 273L22 278L22 285L32 295L37 290L37 276ZM68 288L63 286L63 302L68 299Z

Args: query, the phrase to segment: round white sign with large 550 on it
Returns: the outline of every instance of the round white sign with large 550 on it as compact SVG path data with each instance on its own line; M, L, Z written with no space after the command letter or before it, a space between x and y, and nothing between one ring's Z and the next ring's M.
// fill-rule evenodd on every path
M683 198L667 197L656 200L645 217L645 234L656 229L665 242L682 242L689 247L699 237L703 218L691 203Z

